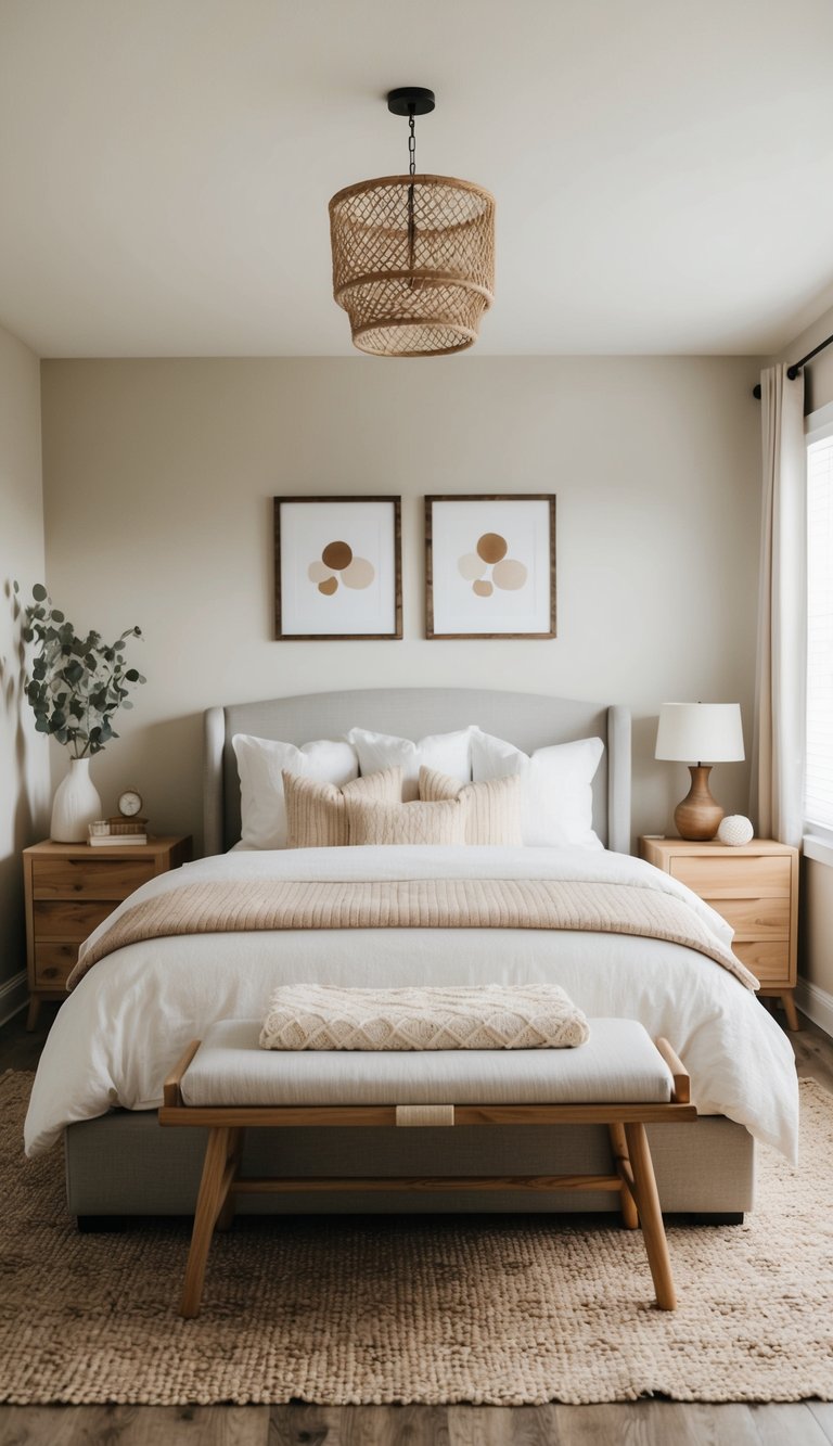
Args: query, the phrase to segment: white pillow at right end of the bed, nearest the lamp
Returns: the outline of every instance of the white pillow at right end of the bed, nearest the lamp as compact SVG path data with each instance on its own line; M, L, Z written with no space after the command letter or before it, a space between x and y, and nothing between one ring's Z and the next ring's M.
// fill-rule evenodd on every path
M605 745L600 737L538 748L529 758L512 743L471 730L471 777L506 778L521 774L521 831L524 843L545 847L602 849L593 831L593 777Z

